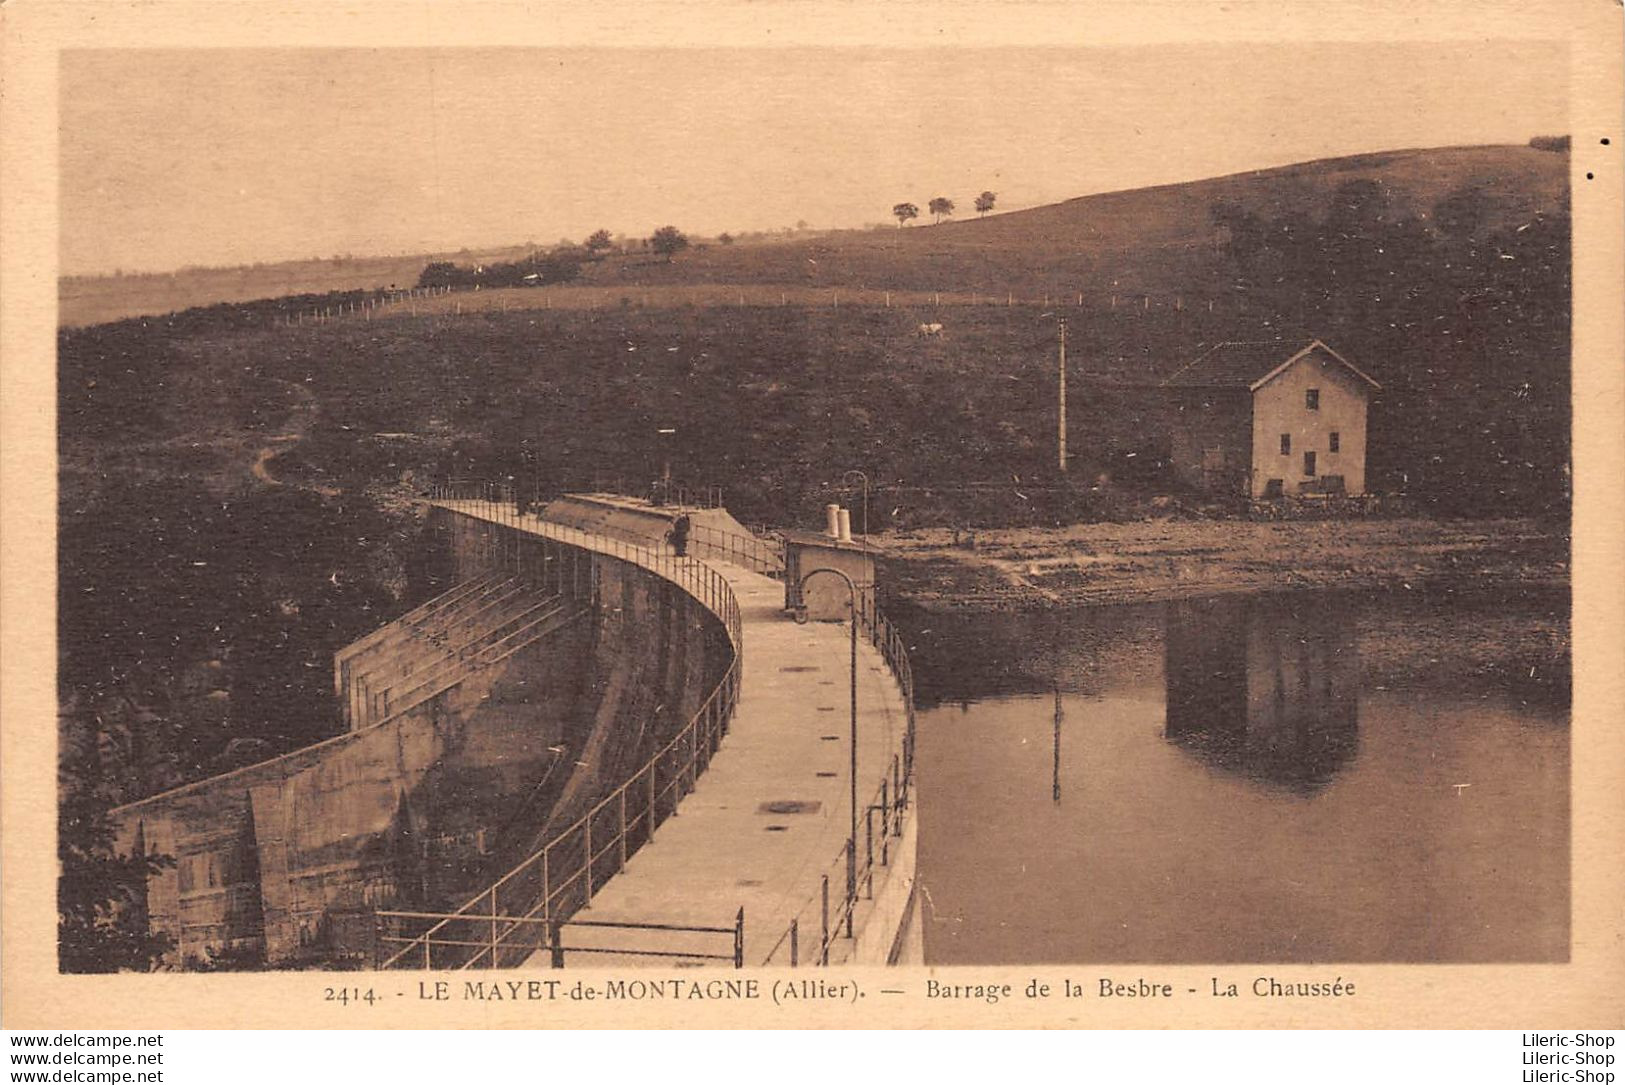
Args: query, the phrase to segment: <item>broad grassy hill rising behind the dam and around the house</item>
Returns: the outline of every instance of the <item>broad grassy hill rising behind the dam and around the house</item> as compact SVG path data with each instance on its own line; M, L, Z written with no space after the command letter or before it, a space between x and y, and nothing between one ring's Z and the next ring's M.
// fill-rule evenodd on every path
M275 463L359 487L411 466L515 473L522 455L561 486L639 479L656 419L681 419L696 481L764 520L860 465L900 487L1030 487L1051 455L1055 317L1071 315L1072 479L1167 487L1146 466L1165 448L1147 388L1214 341L1305 335L1384 383L1378 487L1453 512L1563 508L1566 167L1526 146L1394 151L983 221L618 253L580 286L439 297L418 317L288 328L228 305L68 331L63 492L109 471L221 492ZM834 287L866 289L811 304ZM957 292L952 313L931 291ZM990 302L1006 296L1022 304ZM949 336L921 343L936 318ZM380 456L372 432L418 437Z

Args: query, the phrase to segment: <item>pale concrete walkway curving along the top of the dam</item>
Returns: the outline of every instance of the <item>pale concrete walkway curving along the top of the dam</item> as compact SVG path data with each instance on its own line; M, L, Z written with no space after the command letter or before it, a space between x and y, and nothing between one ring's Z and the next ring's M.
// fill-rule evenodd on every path
M479 502L437 502L491 518ZM507 517L502 523L585 549L616 554L613 541L546 523ZM687 559L699 560L699 559ZM800 957L814 960L819 944L819 897L829 875L830 923L845 893L845 841L850 819L852 729L845 624L798 625L785 614L783 583L739 565L705 559L722 573L739 603L743 672L739 703L728 736L694 793L663 822L626 869L611 877L577 921L731 927L744 908L744 963L760 965L774 950L788 965L782 944L790 919L801 916ZM858 640L858 864L864 859L863 806L889 778L892 757L907 729L904 695L874 646ZM908 819L912 822L912 817ZM876 814L876 854L882 846ZM895 846L895 845L892 845ZM876 887L879 887L876 874ZM861 901L858 923L864 918ZM731 936L665 931L593 929L567 924L569 947L618 947L658 952L731 952ZM850 952L835 939L830 962ZM689 962L619 953L566 953L570 966L650 966ZM536 953L530 966L549 966Z

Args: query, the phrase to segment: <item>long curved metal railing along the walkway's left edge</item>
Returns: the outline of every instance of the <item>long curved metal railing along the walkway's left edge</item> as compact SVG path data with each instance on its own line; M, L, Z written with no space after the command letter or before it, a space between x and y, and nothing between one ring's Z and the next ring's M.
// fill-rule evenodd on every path
M436 504L448 508L463 507L486 521L515 531L619 557L655 572L682 586L717 614L733 648L726 671L687 724L629 780L557 832L543 848L453 911L380 910L377 913L380 947L400 945L380 960L380 968L437 966L437 947L442 950L439 960L442 968L468 968L481 962L488 968L496 968L505 960L518 963L535 952L535 944L515 940L514 936L536 929L538 923L543 926L561 923L585 906L593 892L653 838L655 828L671 817L682 796L694 789L699 775L710 765L712 755L728 733L739 700L743 650L739 604L722 573L704 562L520 515L509 486L484 482L439 486L429 497ZM429 926L422 931L403 932L406 924L424 923ZM489 937L484 940L466 937L465 927L471 923L484 924ZM743 914L739 924L743 945ZM463 937L458 937L460 934ZM557 942L552 940L549 945ZM671 955L696 957L686 952Z

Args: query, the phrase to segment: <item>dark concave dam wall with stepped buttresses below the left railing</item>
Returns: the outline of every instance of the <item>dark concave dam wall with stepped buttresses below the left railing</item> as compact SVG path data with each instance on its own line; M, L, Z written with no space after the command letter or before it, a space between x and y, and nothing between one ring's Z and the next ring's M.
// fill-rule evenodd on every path
M668 741L733 661L707 604L648 568L429 517L452 588L338 653L346 733L112 812L120 851L176 861L145 900L171 963L374 960L379 908L455 906ZM463 640L426 632L440 611Z

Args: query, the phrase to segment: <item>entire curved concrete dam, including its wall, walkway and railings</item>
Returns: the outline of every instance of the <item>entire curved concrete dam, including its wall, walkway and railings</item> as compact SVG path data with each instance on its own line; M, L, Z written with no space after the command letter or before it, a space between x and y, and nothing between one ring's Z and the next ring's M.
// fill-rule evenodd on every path
M900 643L864 607L848 858L847 629L791 622L772 551L723 510L681 512L682 559L665 541L678 510L644 502L434 502L452 586L336 655L346 734L114 812L124 849L176 859L145 903L171 958L907 952Z

